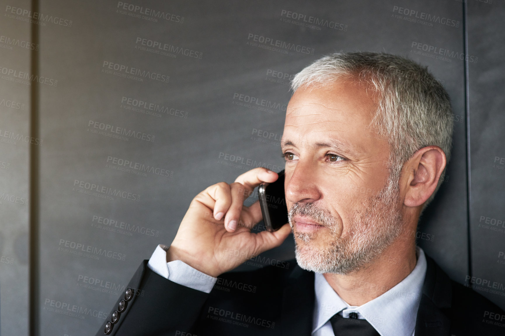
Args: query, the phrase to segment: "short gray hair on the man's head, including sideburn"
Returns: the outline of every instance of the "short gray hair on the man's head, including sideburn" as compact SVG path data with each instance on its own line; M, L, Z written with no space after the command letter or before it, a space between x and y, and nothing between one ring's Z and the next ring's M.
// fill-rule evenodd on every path
M403 164L417 150L438 146L449 161L453 126L449 95L427 68L386 53L334 53L299 72L291 89L325 87L346 79L366 83L378 93L378 109L370 127L388 141L391 149L387 162L391 169L389 191L397 187Z

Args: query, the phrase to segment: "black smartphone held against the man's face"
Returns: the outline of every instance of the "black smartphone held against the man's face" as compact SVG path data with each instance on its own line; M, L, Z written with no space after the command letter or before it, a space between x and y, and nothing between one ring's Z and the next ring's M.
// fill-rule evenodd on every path
M277 231L287 220L286 196L284 195L284 170L278 172L279 178L272 183L263 182L258 187L261 213L267 231Z

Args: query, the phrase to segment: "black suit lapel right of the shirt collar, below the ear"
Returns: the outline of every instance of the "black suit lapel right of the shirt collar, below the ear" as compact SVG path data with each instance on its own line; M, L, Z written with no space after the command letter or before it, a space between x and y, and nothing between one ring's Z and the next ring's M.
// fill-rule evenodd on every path
M450 336L450 320L442 312L442 309L451 306L450 279L433 259L426 256L426 262L426 277L417 312L415 336Z

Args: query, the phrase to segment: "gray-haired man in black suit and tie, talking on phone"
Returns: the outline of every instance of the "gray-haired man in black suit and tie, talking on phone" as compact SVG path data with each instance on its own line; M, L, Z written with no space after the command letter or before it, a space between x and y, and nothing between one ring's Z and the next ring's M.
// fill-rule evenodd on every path
M449 158L442 86L401 57L340 53L292 89L281 142L289 224L252 233L262 213L243 206L275 172L208 187L97 334L502 335L485 317L503 311L451 282L412 234ZM226 273L291 232L294 266Z

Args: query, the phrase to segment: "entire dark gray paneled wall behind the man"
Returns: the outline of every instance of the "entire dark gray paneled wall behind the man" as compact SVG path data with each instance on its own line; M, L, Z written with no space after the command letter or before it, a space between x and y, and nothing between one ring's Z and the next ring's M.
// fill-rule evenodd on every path
M278 140L290 98L289 76L335 51L385 51L410 57L428 66L448 91L455 119L452 159L446 182L421 219L419 244L460 283L471 276L500 283L496 293L476 290L505 307L505 281L500 280L505 279L505 259L498 258L505 252L505 228L491 231L497 225L480 226L491 219L505 222L504 165L494 166L505 158L502 85L496 85L503 84L502 2L468 0L468 20L463 4L453 0L123 3L173 16L155 22L148 15L136 17L139 11L124 10L114 1L37 3L44 16L63 19L37 26L40 50L35 54L38 73L47 78L36 87L43 143L36 148L40 159L32 163L39 167L35 180L39 197L31 200L40 209L35 218L38 232L32 231L37 234L38 266L32 263L36 267L31 271L38 275L34 292L38 319L32 320L41 335L76 336L97 330L140 261L149 258L157 244L171 242L199 191L219 181L232 182L258 165L280 170ZM7 6L30 10L27 1L3 2L4 10ZM399 7L413 15L399 14ZM302 19L286 18L287 11L324 21L304 27ZM414 11L418 16L448 19L449 25L407 20L414 20ZM0 35L29 40L33 24L17 17L2 17ZM308 53L271 50L251 35L304 47ZM150 52L137 43L142 39L190 53ZM447 50L445 56L435 53L440 49ZM0 65L28 71L30 52L0 48ZM461 54L468 54L469 60L460 59ZM155 79L124 78L125 71L108 73L108 64L113 63L155 74ZM286 78L274 77L274 72ZM0 105L2 131L29 135L33 85L0 80L0 99L25 104L24 110ZM240 95L267 100L271 107L262 111L239 105ZM129 105L130 100L152 104L155 110ZM94 125L134 130L145 140L101 135ZM255 130L272 133L273 139L255 141ZM0 169L0 193L28 197L29 146L0 143L0 161L10 163L10 169ZM256 163L231 162L224 160L224 154ZM131 165L120 165L126 161ZM156 170L139 175L136 164ZM125 197L96 190L87 194L86 183L95 189L124 191ZM0 263L2 333L27 334L30 208L3 201L0 209L1 253L14 259L13 264ZM72 248L74 244L79 248ZM98 255L100 249L112 257ZM265 255L293 257L292 239ZM89 282L96 280L89 279L99 282L90 288ZM52 306L57 304L75 305L78 312L61 314Z

